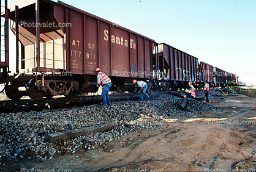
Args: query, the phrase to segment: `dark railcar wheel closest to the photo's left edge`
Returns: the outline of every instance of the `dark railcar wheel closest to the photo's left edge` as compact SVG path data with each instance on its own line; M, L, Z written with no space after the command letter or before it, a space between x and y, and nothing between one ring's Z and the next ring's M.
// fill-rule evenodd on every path
M26 95L25 91L19 91L18 87L24 87L23 83L15 83L12 85L6 85L4 90L6 91L6 96L12 100L18 100L22 96Z

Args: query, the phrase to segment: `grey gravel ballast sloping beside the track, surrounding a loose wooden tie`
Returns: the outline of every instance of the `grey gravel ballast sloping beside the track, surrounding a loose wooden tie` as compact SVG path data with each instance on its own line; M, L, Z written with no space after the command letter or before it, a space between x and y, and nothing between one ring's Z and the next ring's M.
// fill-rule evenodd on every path
M159 95L152 101L119 102L112 106L85 106L70 109L43 110L42 112L9 113L0 116L1 159L53 159L56 154L75 153L78 149L94 149L142 129L153 130L164 125L163 118L192 116L193 112L214 112L218 109L192 100L187 110L178 110L182 101L171 95ZM59 143L45 141L47 134L69 131L97 124L118 124L103 133L89 134ZM29 156L29 157L28 157Z

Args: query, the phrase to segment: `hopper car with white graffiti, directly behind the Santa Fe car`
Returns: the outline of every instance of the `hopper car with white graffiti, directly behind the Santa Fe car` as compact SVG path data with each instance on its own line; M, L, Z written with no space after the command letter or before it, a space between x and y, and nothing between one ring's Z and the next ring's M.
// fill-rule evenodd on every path
M186 87L189 81L197 82L197 57L166 43L159 44L158 52L159 70L164 80L171 83L171 88Z

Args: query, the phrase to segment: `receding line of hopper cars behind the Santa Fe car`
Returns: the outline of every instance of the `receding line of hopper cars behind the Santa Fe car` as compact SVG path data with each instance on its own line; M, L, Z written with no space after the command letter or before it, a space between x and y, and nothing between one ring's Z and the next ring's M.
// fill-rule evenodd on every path
M159 69L162 76L162 84L166 89L187 88L187 82L194 82L195 87L201 88L204 81L211 87L225 87L245 85L238 81L236 74L228 73L208 63L198 61L197 57L173 48L165 43L158 45ZM156 59L156 54L154 55Z

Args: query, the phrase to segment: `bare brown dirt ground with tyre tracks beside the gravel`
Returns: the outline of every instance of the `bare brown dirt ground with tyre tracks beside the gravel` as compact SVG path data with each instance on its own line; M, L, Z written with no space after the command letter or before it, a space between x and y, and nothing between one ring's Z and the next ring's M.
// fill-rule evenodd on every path
M44 161L24 157L0 167L2 171L255 171L256 98L231 94L210 101L223 112L164 119L162 129L128 133L95 149Z

